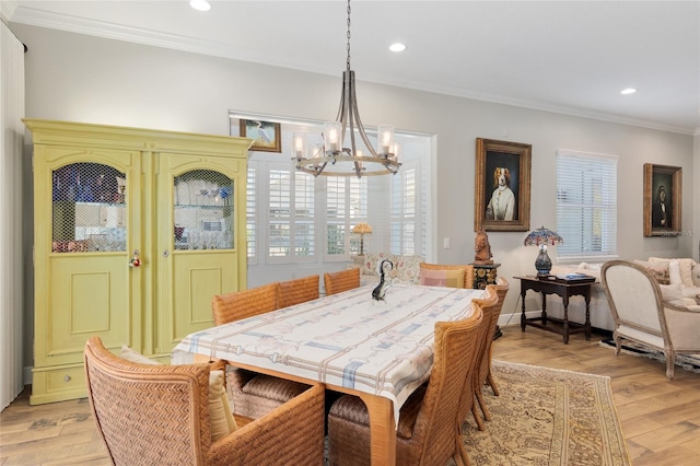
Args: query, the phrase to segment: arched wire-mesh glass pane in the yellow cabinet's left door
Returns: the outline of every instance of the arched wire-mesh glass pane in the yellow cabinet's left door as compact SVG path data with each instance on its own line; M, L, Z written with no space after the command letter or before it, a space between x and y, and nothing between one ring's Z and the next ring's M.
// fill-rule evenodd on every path
M125 252L127 177L101 163L52 172L54 253Z

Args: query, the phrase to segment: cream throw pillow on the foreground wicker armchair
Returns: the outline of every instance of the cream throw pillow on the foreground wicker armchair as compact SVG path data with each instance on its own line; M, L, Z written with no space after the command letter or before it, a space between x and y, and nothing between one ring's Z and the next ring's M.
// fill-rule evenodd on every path
M160 362L147 358L126 345L121 346L119 357L138 364L162 365ZM212 442L237 429L223 384L223 371L209 372L209 424Z

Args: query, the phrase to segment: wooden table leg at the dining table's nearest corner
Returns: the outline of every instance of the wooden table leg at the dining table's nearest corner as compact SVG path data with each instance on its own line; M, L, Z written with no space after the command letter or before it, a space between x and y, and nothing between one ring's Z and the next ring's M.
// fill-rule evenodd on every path
M362 393L360 398L370 412L370 439L373 465L396 464L396 423L390 399Z

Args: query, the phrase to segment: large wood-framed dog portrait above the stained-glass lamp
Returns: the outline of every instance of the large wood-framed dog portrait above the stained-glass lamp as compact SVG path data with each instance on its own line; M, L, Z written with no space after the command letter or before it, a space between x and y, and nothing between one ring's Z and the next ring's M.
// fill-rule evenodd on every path
M529 231L532 152L532 144L477 138L474 231ZM506 168L506 185L499 187L497 168Z

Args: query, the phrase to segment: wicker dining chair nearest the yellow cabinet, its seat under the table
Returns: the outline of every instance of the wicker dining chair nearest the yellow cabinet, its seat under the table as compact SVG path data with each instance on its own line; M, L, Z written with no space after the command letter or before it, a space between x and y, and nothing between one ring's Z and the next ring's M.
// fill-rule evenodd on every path
M253 317L278 308L278 282L212 298L215 325ZM226 393L236 416L257 419L303 393L308 385L226 366Z

